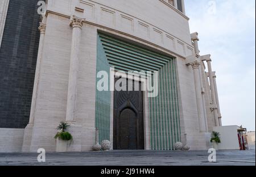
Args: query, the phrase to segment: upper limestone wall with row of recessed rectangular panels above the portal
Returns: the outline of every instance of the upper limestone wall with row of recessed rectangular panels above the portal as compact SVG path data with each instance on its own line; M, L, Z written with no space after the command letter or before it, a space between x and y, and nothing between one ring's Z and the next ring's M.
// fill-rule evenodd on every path
M48 11L139 37L183 57L193 53L188 17L162 0L49 0ZM75 10L78 7L80 10ZM155 13L151 13L154 11Z

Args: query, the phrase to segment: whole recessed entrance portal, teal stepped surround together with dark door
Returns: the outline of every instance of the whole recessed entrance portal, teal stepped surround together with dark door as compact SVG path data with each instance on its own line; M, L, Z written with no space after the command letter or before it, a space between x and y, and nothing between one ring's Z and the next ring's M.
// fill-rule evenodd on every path
M112 95L96 88L95 126L100 142L112 141L113 149L174 150L175 142L181 141L174 58L104 33L98 33L97 44L97 73L107 71L111 75L111 67L126 73L159 72L156 97L144 97L141 91L115 91ZM97 82L100 80L96 77Z

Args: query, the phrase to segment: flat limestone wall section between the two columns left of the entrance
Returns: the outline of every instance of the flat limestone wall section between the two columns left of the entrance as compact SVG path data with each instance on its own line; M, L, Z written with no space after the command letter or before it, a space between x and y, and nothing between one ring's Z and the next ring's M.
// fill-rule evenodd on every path
M56 127L65 120L72 29L69 19L49 14L44 37L31 151L55 151Z

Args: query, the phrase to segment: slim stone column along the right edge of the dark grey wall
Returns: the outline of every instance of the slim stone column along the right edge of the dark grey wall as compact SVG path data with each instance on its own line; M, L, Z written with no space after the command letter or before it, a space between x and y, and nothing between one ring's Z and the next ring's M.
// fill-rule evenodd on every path
M34 80L31 109L30 109L30 121L28 123L30 125L34 125L34 120L35 120L36 100L38 97L38 85L39 85L39 77L40 77L40 72L41 72L44 36L46 34L46 24L40 23L38 29L40 31L40 40L39 40L39 47L38 47L38 58L36 60L35 80Z

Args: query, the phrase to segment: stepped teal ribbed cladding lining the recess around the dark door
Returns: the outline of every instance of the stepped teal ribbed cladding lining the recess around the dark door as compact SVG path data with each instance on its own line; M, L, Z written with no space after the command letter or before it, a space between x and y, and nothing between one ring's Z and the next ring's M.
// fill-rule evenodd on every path
M159 94L148 99L151 149L173 150L181 131L174 58L102 33L98 33L97 40L97 73L104 70L109 74L110 66L122 71L159 71ZM96 88L96 128L100 141L110 139L110 97L110 91Z

